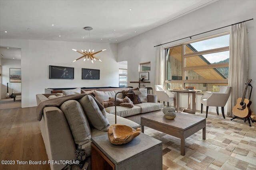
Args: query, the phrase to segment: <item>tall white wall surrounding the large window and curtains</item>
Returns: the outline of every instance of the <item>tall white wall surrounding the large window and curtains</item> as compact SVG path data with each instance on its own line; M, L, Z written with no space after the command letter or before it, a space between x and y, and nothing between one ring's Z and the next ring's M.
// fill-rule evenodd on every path
M239 21L244 21L254 18L252 21L246 22L248 28L248 45L249 45L249 78L252 78L252 86L256 87L256 1L243 0L221 0L214 2L204 8L200 8L176 20L170 21L164 25L151 29L136 37L128 39L118 44L118 61L128 61L128 82L138 80L138 63L151 61L150 71L150 84L148 87L153 87L155 82L156 71L156 48L154 45L166 43L176 39L188 37L209 31ZM205 33L192 37L199 39L209 35L215 35L229 31L230 28L219 29L210 33ZM163 45L168 47L190 41L185 39ZM132 54L132 56L131 56ZM135 84L128 83L128 86L136 86ZM256 93L252 93L252 110L256 112ZM200 109L200 107L197 109ZM214 112L215 108L209 111Z

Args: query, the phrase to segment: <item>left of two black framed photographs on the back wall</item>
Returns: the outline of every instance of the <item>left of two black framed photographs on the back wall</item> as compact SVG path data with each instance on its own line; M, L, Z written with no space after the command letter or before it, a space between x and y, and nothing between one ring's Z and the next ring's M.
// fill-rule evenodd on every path
M74 67L49 66L50 79L74 79Z

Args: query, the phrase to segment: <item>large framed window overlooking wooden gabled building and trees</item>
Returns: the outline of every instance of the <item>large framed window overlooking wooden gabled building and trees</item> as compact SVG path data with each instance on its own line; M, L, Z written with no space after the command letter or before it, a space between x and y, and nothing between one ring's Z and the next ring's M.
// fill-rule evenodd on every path
M218 92L228 84L229 32L165 49L166 87Z

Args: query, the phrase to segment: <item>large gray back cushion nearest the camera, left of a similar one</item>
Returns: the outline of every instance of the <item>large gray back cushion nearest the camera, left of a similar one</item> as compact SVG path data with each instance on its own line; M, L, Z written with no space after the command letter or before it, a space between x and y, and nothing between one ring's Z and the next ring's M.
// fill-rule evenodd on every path
M60 106L60 109L68 121L75 143L78 145L88 143L91 131L81 105L76 100L68 100Z

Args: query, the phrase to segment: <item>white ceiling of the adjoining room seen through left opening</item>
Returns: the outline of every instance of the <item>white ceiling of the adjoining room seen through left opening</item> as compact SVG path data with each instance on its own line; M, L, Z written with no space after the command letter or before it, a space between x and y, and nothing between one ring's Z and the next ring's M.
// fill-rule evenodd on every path
M21 49L12 48L12 47L0 47L0 57L2 59L20 60L21 59Z

